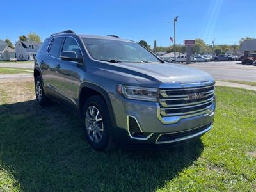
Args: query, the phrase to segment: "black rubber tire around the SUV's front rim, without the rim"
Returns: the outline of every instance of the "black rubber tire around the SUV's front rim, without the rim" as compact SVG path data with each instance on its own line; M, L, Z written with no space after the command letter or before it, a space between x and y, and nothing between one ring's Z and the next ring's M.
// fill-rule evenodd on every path
M88 132L86 130L85 116L86 116L86 110L89 106L95 106L99 110L100 115L102 117L104 131L103 131L102 139L99 141L99 143L95 143L92 140L90 140ZM88 100L86 100L83 108L83 131L88 143L96 150L106 150L110 145L110 143L112 142L112 127L111 127L111 120L109 117L108 106L106 105L106 102L104 102L104 99L102 97L92 96Z

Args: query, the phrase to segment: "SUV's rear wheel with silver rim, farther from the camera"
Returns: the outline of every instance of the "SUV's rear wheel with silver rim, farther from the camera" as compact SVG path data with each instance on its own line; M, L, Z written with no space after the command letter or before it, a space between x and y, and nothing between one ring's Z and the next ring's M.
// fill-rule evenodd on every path
M44 93L42 79L40 76L35 78L35 93L36 100L40 106L49 106L49 104L51 104L51 99L49 99Z

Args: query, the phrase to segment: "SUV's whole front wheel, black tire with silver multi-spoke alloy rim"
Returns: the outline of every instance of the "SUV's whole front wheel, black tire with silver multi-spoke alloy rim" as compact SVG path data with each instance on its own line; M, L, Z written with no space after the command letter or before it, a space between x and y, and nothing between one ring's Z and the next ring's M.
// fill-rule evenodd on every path
M88 143L96 150L113 148L112 125L108 106L102 97L92 96L84 104L83 131Z

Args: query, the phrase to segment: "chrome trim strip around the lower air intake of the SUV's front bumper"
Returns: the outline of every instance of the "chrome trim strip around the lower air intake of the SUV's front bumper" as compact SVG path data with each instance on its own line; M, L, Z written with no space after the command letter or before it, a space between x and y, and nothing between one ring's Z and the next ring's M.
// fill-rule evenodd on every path
M200 126L202 127L202 126ZM197 128L200 128L200 127L197 127ZM194 128L196 129L196 128ZM195 134L191 134L191 135L188 135L188 136L184 136L184 137L180 137L180 138L176 138L175 140L170 140L170 141L160 141L160 142L157 142L157 140L159 140L159 138L164 135L164 134L175 134L175 133L178 133L178 132L173 132L173 133L163 133L163 134L159 134L159 136L156 138L156 141L155 143L156 144L164 144L164 143L176 143L176 142L179 142L179 141L184 141L184 140L189 140L189 139L192 139L192 138L195 138L196 136L200 136L202 134L205 134L205 132L208 132L212 129L212 123L209 127L205 128L204 130L200 131L200 132L196 132ZM188 131L191 131L193 129L189 129ZM186 131L184 131L186 132Z

